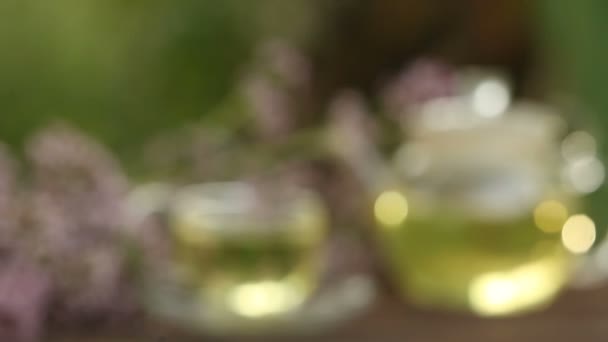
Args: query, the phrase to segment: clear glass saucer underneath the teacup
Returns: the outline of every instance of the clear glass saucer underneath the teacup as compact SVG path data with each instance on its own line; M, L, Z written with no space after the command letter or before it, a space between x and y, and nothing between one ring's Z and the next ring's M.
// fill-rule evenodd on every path
M330 244L325 256L327 267L317 290L297 309L280 315L248 318L217 312L169 273L145 279L144 302L152 315L206 335L319 333L362 314L376 298L374 279L361 270L360 258L343 247Z

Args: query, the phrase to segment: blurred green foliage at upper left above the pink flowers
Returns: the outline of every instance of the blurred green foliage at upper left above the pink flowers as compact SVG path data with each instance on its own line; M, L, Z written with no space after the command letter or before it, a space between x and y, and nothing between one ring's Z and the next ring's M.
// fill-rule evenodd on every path
M304 36L311 3L2 0L0 139L61 118L128 155L218 103L258 40Z

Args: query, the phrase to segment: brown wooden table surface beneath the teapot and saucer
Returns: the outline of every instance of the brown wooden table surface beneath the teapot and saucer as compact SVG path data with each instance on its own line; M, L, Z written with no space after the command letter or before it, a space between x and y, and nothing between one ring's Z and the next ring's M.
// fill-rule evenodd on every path
M360 318L324 335L280 338L188 336L153 323L124 322L114 332L55 332L51 342L194 342L194 341L608 341L608 287L570 290L551 308L524 316L481 319L426 312L386 295Z

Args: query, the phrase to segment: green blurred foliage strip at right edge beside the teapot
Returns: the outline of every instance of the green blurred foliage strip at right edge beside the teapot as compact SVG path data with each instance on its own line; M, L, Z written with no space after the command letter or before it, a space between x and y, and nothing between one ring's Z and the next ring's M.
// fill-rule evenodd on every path
M545 62L552 64L561 82L554 87L565 88L580 98L586 112L577 113L589 123L600 138L600 153L606 163L608 149L608 2L602 0L539 2L539 18L543 28ZM601 234L608 228L608 186L589 198L591 214Z

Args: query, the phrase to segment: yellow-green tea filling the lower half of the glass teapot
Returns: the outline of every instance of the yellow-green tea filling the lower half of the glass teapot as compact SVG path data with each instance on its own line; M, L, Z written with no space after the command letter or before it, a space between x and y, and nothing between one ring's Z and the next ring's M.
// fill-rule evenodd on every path
M560 202L494 221L427 209L397 191L376 201L378 238L412 301L507 315L543 306L566 282L571 255L560 232L569 213Z

